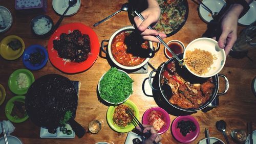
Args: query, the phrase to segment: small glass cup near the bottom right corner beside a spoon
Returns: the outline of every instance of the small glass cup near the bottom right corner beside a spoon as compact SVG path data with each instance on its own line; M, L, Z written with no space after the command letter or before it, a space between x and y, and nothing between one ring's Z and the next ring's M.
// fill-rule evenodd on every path
M236 129L231 131L231 137L237 143L244 143L247 138L247 133L245 130Z

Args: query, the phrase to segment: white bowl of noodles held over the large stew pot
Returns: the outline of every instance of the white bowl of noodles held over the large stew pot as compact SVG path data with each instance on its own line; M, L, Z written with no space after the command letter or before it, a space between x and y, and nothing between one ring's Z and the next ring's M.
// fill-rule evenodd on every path
M206 37L191 41L183 57L188 71L201 78L218 74L226 62L225 51L219 47L218 42Z

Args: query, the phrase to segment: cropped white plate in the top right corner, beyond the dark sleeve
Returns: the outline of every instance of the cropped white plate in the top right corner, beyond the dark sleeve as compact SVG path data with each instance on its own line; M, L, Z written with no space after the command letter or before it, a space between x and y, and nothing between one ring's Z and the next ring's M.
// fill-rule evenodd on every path
M240 25L248 26L256 20L256 1L252 1L249 6L250 9L248 10L248 12L238 20L238 23Z

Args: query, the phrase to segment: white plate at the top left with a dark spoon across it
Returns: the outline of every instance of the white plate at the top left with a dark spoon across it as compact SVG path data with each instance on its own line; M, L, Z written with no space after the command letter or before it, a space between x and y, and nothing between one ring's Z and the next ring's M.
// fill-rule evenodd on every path
M68 10L65 16L71 16L76 14L80 6L81 2L80 0L78 0L77 3ZM69 7L69 0L53 0L52 7L57 14L62 15L65 12L65 10Z

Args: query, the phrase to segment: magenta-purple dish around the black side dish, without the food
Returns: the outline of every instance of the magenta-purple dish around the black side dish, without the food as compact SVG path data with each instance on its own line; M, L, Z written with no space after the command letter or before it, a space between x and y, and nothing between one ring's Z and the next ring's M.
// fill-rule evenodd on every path
M177 125L180 121L191 121L193 122L196 126L197 126L197 129L193 132L193 131L190 131L190 133L188 133L186 136L183 136L181 133L180 133L180 128L177 128ZM199 123L197 122L197 119L194 118L193 116L190 116L190 115L186 115L186 116L178 116L174 119L173 123L172 123L172 134L173 136L180 142L182 143L189 143L191 141L194 141L199 133L200 133L200 127L199 127Z

